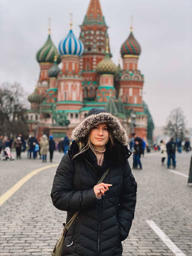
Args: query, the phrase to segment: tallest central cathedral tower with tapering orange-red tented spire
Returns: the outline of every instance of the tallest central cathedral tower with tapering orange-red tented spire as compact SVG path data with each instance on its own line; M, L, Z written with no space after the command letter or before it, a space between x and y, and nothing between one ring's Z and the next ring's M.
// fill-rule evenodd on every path
M105 56L106 38L108 38L108 27L99 0L90 0L83 24L80 27L80 39L85 48L83 56L80 58L83 98L94 100L96 90L99 87L99 74L96 67Z

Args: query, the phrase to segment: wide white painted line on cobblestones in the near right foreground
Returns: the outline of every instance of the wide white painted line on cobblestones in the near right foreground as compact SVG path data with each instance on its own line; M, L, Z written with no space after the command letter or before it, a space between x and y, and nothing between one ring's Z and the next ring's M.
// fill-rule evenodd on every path
M147 224L153 231L161 238L166 246L175 254L175 256L186 256L169 238L166 234L156 225L153 220L146 220Z

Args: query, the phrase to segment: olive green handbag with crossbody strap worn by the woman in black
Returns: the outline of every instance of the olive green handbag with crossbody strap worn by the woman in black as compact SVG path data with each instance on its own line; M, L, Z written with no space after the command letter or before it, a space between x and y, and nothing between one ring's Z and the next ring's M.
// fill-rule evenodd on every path
M101 179L98 181L97 185L100 184L104 180L104 178L108 174L110 168L111 167L109 167L104 172ZM77 217L78 214L79 214L79 211L76 211L67 224L63 223L63 226L64 226L63 231L61 232L60 237L57 240L53 251L51 252L51 256L61 256L61 250L62 250L62 247L63 247L63 242L65 240L67 231L69 230L71 224L73 223L74 219Z

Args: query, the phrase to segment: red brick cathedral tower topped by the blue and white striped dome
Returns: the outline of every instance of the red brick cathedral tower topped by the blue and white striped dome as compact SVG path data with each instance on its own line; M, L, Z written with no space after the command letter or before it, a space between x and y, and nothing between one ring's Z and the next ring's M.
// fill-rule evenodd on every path
M70 113L82 108L83 91L79 58L83 51L83 43L73 34L71 22L69 34L59 43L62 68L58 74L57 110L67 110Z

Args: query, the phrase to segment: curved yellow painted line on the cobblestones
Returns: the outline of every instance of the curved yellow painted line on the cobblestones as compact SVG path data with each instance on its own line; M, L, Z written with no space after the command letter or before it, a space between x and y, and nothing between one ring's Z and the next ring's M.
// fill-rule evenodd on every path
M23 186L23 184L25 184L35 174L37 174L38 172L40 172L42 170L45 170L45 169L48 169L51 167L56 167L56 166L58 166L58 164L47 165L47 166L41 167L39 169L33 170L32 172L25 175L22 179L20 179L17 183L15 183L15 185L13 187L11 187L9 190L7 190L0 197L0 206L2 206L2 204L4 204L4 202L7 201L7 199L9 199L9 197L11 197L21 186Z

